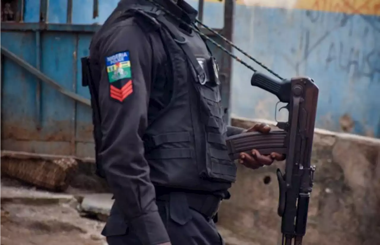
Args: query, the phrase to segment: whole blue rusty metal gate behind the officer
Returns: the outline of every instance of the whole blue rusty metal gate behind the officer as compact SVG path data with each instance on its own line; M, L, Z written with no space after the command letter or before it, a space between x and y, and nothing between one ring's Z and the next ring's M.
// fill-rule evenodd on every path
M117 2L0 0L0 150L93 156L89 92L81 86L80 58L88 55L100 25L72 24L73 12L92 9L95 19L110 14ZM101 4L113 6L102 12ZM233 7L233 0L225 2L225 24L217 29L228 39ZM60 14L48 21L52 10ZM203 0L199 12L203 13ZM215 53L228 117L231 58Z

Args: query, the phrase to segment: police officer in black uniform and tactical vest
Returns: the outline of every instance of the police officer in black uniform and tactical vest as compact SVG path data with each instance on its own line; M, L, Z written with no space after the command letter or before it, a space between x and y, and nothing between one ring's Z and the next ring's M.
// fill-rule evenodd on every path
M189 27L197 11L133 1L119 2L82 59L98 170L115 199L102 234L109 245L223 244L213 219L236 178L225 137L244 129L223 122L215 59ZM282 158L253 150L239 162Z

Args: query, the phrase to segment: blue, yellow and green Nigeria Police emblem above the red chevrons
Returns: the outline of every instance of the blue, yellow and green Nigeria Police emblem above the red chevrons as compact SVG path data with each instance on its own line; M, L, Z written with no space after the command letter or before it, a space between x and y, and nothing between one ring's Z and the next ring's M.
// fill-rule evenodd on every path
M132 78L129 51L119 52L106 57L106 67L109 83Z

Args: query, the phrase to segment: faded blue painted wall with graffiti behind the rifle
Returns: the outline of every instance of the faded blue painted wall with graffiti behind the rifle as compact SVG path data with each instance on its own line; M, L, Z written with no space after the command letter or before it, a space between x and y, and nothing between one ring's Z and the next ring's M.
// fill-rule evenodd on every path
M237 46L283 77L305 75L318 84L316 127L341 131L348 124L351 132L380 137L378 16L246 6L237 6L236 16ZM250 88L250 76L234 63L232 113L274 119L276 98Z

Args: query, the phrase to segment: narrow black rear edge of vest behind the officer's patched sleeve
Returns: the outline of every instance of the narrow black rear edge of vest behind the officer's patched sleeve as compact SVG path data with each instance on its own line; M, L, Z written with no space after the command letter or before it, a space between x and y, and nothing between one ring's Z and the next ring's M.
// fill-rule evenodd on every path
M103 167L101 166L101 160L99 157L99 149L101 147L101 128L100 128L100 111L98 105L98 93L95 83L92 80L91 65L88 57L81 58L82 63L82 86L89 87L91 95L91 108L92 108L92 123L93 123L93 137L95 141L95 162L96 162L96 174L102 178L105 177Z

